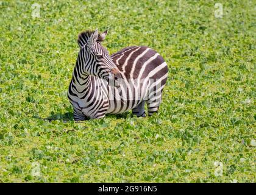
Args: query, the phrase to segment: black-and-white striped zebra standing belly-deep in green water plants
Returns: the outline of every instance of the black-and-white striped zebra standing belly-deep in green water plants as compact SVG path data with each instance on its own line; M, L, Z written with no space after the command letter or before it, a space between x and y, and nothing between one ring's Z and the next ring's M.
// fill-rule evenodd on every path
M110 55L101 42L107 30L79 34L80 51L68 88L74 120L104 118L132 110L145 117L158 111L168 77L163 57L146 46L129 46Z

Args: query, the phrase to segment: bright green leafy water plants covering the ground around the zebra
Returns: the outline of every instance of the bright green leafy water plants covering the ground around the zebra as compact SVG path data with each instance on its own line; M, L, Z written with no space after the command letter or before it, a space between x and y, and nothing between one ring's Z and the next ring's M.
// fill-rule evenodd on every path
M255 4L2 1L0 182L255 182ZM157 50L160 112L76 123L67 98L77 35ZM215 164L222 163L219 175Z

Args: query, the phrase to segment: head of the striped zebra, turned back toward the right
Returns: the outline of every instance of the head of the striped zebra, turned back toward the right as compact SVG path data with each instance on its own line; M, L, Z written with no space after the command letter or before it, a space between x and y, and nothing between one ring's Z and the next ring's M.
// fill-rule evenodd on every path
M114 79L120 79L121 74L113 63L110 54L101 42L104 41L107 30L98 34L98 29L82 32L77 40L80 46L80 67L82 72L107 80L112 83ZM82 61L82 62L81 62Z

